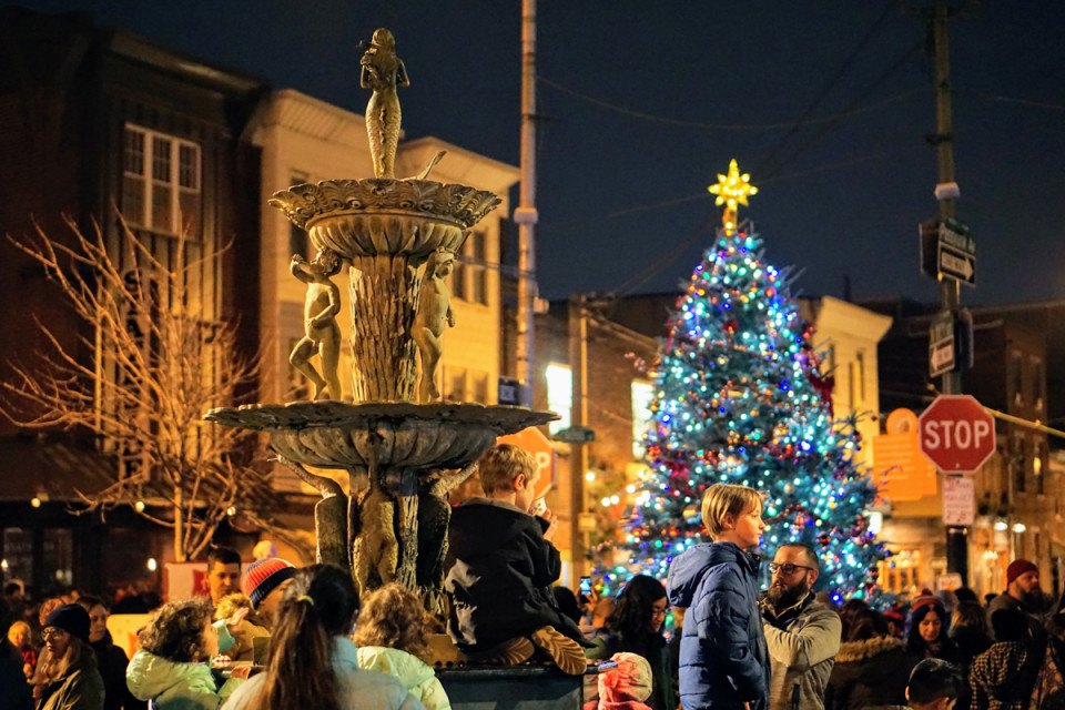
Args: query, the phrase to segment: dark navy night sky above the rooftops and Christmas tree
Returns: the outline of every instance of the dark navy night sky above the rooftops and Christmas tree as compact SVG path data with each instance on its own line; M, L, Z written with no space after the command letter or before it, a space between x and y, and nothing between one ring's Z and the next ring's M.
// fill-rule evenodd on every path
M916 4L916 1L914 1ZM958 4L954 0L954 4ZM1065 298L1065 3L971 2L951 23L963 302ZM412 85L407 138L517 165L518 0L40 0L362 113L358 42L385 26ZM897 0L540 0L540 292L666 291L712 242L729 159L798 291L937 298L917 223L936 213L925 24ZM797 125L797 122L801 121ZM363 178L366 175L336 175ZM277 187L283 187L278 185Z

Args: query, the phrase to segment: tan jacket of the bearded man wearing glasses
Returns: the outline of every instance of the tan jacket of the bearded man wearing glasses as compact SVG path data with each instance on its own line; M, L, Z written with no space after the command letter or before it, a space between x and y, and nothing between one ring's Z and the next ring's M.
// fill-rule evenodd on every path
M769 686L771 710L790 710L798 687L799 707L821 710L835 655L840 650L840 615L814 600L811 591L793 607L765 612L765 642L772 666Z

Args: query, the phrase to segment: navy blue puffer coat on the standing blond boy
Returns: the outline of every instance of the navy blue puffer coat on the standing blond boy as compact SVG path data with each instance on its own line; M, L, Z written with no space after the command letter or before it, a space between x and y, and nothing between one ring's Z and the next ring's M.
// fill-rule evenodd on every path
M697 545L669 568L669 602L684 607L684 710L769 707L769 651L758 609L758 558L732 542Z

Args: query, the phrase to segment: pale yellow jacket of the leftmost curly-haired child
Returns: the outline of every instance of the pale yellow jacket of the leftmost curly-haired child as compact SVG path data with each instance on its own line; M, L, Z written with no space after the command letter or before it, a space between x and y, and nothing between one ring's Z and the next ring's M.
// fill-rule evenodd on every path
M130 660L125 682L156 710L217 710L224 699L206 663L175 663L144 649Z

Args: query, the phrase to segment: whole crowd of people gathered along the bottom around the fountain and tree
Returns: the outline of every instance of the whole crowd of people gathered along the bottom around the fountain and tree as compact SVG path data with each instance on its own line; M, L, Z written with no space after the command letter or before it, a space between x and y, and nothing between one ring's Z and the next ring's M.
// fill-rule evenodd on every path
M499 445L478 475L480 495L453 511L446 619L395 582L361 596L337 567L245 566L216 547L209 596L139 610L151 613L128 658L106 600L34 606L9 585L0 710L448 710L442 638L470 663L544 661L574 676L591 663L586 710L1065 708L1065 608L1027 560L984 601L963 588L836 608L814 591L815 550L788 542L759 589L762 497L719 484L702 500L709 542L673 559L666 580L637 575L599 598L557 585L557 520L530 513L535 459Z

